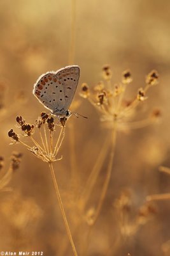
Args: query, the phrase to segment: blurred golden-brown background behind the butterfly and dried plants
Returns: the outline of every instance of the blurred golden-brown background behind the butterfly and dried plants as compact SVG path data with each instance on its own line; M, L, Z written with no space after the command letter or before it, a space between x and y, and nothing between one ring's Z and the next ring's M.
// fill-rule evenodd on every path
M72 61L80 66L81 75L70 109L77 105L76 111L88 119L69 119L60 150L63 159L54 168L78 255L170 255L170 200L146 204L148 195L170 193L170 177L159 172L161 165L170 167L169 10L169 1L159 0L1 0L1 177L8 172L12 152L23 154L8 184L12 190L0 191L1 251L73 255L48 164L20 144L10 145L8 138L10 129L20 132L15 127L17 115L34 124L45 111L32 95L38 77ZM103 79L106 64L113 84L121 82L124 70L131 70L129 100L145 85L148 72L157 70L159 84L148 92L137 119L155 108L162 118L142 129L118 132L108 192L99 218L90 226L87 215L99 200L108 153L83 212L77 198L110 130L79 94L82 83L93 88Z

